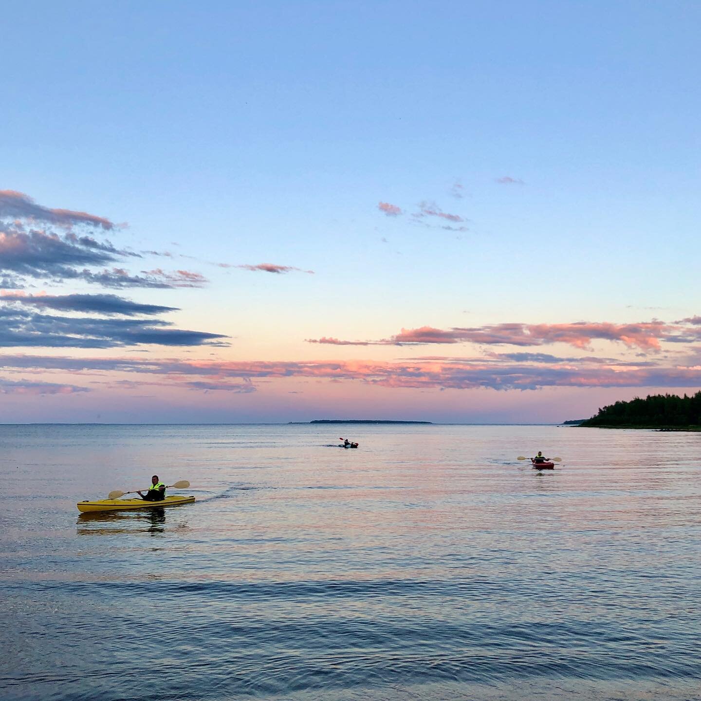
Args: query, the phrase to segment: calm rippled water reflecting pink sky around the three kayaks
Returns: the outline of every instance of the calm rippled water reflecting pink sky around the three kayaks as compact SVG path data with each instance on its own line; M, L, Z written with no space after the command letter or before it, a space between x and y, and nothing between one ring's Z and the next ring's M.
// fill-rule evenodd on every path
M515 461L538 449L563 463ZM699 699L700 456L547 426L0 426L0 696ZM154 472L198 501L79 516Z

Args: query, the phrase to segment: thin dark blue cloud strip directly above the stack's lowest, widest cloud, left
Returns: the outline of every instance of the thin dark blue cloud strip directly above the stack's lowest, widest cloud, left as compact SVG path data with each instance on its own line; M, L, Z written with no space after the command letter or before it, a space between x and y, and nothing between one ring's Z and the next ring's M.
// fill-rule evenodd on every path
M135 316L154 315L178 311L177 307L139 302L118 297L116 294L25 294L24 292L0 292L0 302L17 303L80 313Z

